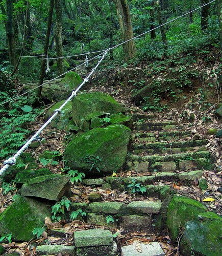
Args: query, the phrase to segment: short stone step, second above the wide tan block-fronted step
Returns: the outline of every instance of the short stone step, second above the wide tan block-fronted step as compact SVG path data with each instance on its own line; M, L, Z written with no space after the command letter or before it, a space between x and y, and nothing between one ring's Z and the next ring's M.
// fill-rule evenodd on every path
M157 133L135 133L132 135L133 141L138 142L155 142L155 141L177 141L180 138L191 136L191 132L174 131L174 132L157 132Z

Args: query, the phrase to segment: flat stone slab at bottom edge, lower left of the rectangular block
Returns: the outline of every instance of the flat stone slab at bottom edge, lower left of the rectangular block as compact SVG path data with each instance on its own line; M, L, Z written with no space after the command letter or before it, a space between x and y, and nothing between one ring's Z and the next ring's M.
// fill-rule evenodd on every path
M75 249L75 246L67 245L40 245L36 247L36 252L38 255L76 255Z

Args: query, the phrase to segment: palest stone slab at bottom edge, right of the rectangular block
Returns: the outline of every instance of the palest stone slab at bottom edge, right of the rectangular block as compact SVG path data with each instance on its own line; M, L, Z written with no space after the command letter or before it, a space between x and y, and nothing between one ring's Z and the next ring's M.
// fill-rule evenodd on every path
M122 256L165 256L160 244L153 242L151 244L139 244L141 251L136 249L136 245L127 245L122 247Z

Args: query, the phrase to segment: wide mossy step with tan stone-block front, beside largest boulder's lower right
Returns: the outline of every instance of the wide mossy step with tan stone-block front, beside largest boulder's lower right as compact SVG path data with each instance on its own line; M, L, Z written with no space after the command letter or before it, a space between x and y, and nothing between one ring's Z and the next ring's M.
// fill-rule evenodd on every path
M165 156L128 156L126 169L137 173L146 172L175 172L176 170L213 170L215 165L213 157L208 151L195 153L169 154Z

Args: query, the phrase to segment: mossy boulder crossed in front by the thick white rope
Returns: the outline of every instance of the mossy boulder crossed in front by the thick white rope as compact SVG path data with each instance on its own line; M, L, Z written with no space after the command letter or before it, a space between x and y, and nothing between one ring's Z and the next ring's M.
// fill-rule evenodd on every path
M50 119L50 117L55 113L55 110L59 109L60 106L65 102L62 100L57 102L55 105L50 108L44 116L44 120ZM56 127L59 130L65 129L66 125L69 123L71 119L71 110L72 110L72 103L69 101L61 111L50 123L51 127Z

